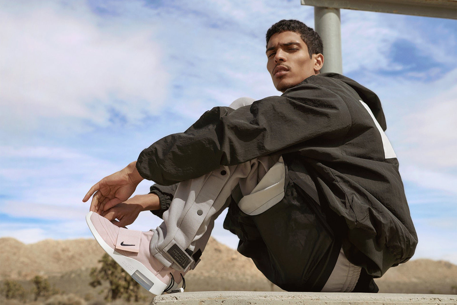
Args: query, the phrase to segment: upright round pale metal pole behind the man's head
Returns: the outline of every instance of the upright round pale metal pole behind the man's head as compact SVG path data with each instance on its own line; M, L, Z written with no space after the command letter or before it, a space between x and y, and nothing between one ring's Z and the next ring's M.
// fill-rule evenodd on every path
M340 9L314 6L314 27L324 44L321 72L343 73Z

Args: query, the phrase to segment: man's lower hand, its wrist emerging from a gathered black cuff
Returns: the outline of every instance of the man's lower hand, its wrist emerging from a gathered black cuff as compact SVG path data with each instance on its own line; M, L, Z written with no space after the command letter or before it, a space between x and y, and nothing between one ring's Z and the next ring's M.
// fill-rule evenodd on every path
M155 194L136 195L105 210L101 216L112 221L116 226L128 226L137 219L141 211L159 210L159 197ZM114 221L115 219L118 220Z

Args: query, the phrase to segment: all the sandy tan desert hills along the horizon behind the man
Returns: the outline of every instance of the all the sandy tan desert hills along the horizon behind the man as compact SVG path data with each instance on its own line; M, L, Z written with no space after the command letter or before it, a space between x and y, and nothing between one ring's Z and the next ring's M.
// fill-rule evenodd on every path
M44 240L26 245L13 238L0 238L0 279L27 280L38 274L55 279L57 285L74 281L78 284L67 286L85 289L90 268L98 265L102 255L103 250L92 239ZM456 294L457 265L417 259L391 268L376 283L380 292ZM213 238L197 268L186 275L186 286L186 291L280 290L249 258Z

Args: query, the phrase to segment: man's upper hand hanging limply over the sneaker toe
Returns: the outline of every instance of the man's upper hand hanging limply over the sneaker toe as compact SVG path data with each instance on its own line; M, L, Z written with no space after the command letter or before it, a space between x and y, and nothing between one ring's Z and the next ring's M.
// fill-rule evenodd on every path
M122 170L111 174L94 184L84 196L83 202L92 197L90 210L102 214L113 206L128 200L137 185L143 180L136 168L136 161L128 164Z

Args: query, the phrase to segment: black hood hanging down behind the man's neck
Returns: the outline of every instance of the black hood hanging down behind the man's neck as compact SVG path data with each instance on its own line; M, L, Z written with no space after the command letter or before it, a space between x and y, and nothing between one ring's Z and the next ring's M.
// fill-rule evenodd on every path
M345 77L338 73L320 73L317 76L320 77L329 77L332 79L339 79L345 84L351 86L352 89L356 90L357 94L365 102L365 104L370 107L374 117L376 118L379 125L383 128L383 131L386 131L386 117L384 116L383 107L381 106L381 101L377 95L370 89L365 88L361 84L357 83L355 80Z

